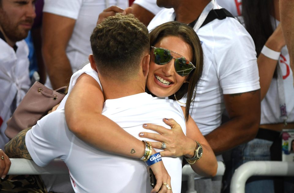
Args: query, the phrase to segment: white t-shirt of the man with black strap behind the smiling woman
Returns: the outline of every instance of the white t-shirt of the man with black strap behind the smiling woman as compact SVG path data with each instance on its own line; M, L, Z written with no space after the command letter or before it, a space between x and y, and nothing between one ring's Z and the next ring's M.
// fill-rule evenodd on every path
M214 9L218 9L217 4ZM151 20L149 31L175 20L174 9L163 9ZM190 114L203 135L221 124L223 95L260 89L254 42L234 18L213 20L196 31L202 43L204 70Z

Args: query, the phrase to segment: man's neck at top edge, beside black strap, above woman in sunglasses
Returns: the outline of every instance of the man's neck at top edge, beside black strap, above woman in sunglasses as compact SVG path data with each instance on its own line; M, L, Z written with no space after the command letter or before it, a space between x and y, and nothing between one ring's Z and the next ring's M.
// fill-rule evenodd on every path
M209 2L210 0L181 1L178 6L174 7L176 20L190 24L200 16Z

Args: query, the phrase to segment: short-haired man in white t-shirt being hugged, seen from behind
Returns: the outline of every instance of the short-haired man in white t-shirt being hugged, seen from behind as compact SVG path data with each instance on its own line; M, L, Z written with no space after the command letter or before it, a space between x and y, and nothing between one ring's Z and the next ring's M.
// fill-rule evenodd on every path
M186 133L183 111L177 102L145 93L150 40L142 23L121 14L108 17L94 29L91 43L90 63L97 68L99 78L90 76L103 85L103 115L140 140L138 132L145 130L142 125L152 120L163 126L163 114L173 117ZM26 155L40 166L61 158L69 168L75 192L149 193L152 189L144 161L106 153L78 139L67 127L64 108L43 117L31 130L19 133L6 145L6 153L9 157ZM162 159L171 176L172 191L180 193L182 158Z

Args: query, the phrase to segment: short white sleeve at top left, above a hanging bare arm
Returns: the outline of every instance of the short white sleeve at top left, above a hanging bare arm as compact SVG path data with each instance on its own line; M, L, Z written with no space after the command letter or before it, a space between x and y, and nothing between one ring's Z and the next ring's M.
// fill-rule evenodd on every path
M77 20L83 0L44 0L43 12Z

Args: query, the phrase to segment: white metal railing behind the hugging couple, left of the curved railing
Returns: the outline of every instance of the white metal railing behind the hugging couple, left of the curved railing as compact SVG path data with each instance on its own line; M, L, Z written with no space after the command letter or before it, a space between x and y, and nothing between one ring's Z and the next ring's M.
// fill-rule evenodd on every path
M21 158L11 158L11 166L8 174L23 175L23 174L69 174L66 164L60 160L55 159L45 167L40 167L34 161ZM217 176L223 176L225 165L222 161L218 161ZM185 165L182 170L183 176L188 176L188 190L187 193L196 193L195 191L195 177L201 177L193 171L190 165Z

